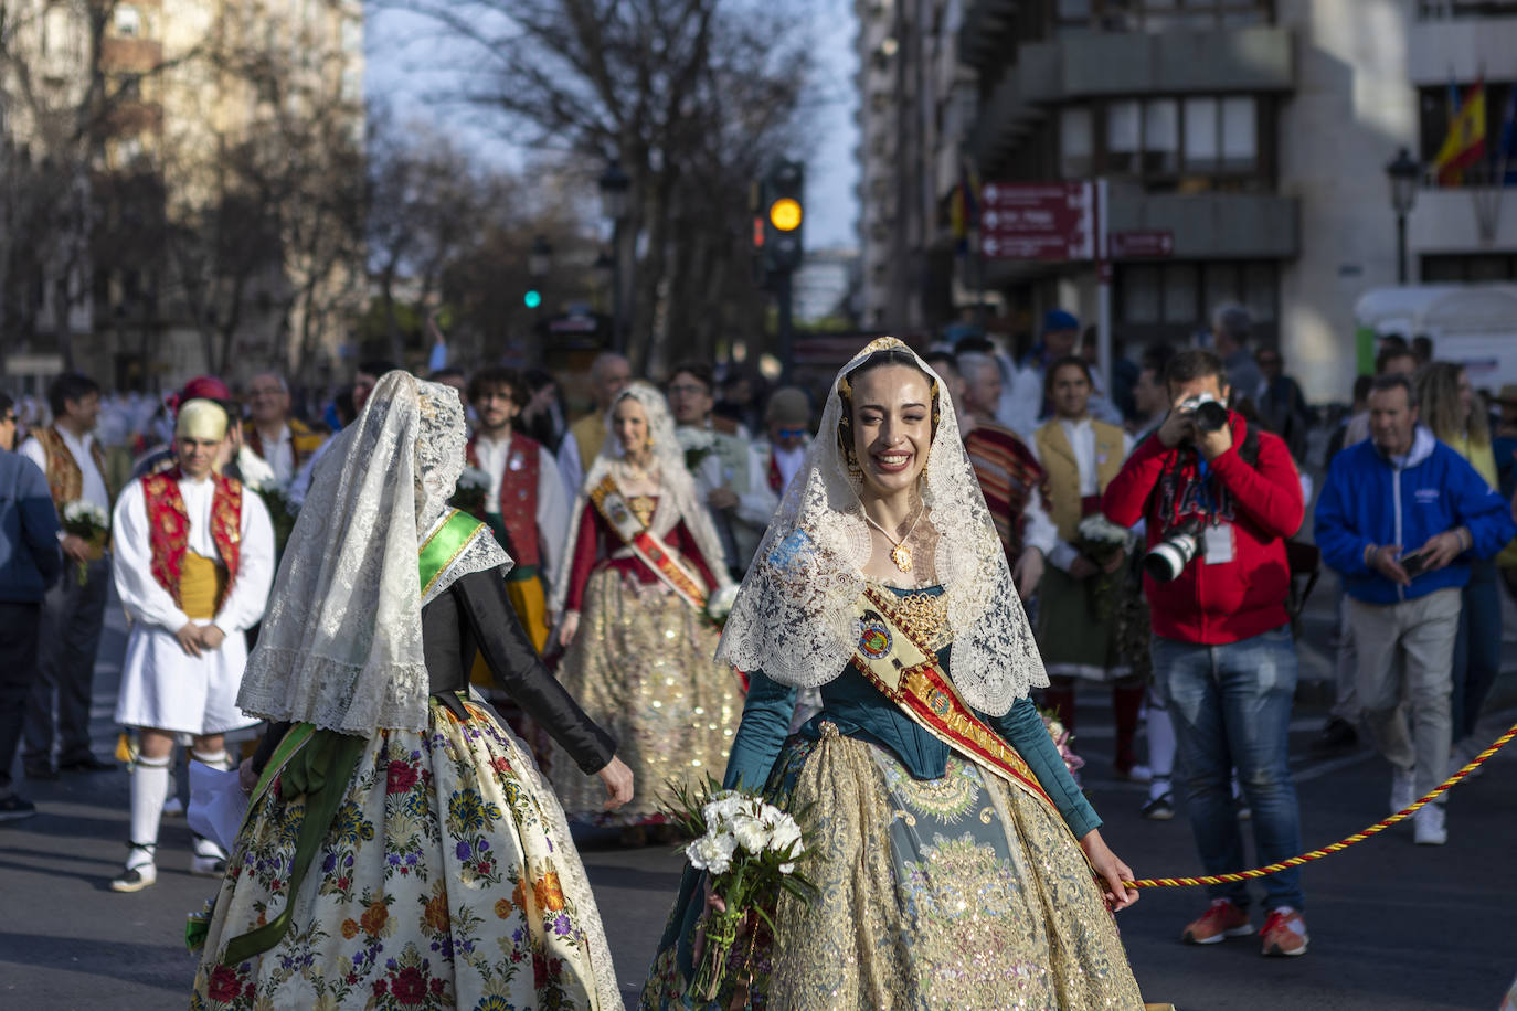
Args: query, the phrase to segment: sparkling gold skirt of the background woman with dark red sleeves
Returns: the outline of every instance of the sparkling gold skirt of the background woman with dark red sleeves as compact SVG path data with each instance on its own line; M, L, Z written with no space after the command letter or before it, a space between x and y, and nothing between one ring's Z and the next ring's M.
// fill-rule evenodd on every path
M586 585L579 634L558 664L558 681L586 714L616 738L616 756L637 781L631 803L605 814L605 790L573 762L548 775L570 819L598 825L661 820L671 779L696 785L721 776L743 715L737 675L718 664L716 628L663 584L623 581L602 568Z

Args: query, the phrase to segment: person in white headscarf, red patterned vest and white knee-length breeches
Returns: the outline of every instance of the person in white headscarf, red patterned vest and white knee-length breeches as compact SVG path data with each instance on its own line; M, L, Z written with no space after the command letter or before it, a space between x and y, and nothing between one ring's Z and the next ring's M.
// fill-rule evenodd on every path
M130 853L114 891L158 879L174 738L193 738L196 761L231 768L223 734L258 721L237 708L237 691L247 664L243 632L262 618L273 584L275 535L262 500L215 471L226 437L220 405L179 405L176 467L133 480L115 506L115 590L132 618L115 721L138 728L141 756L132 775ZM225 870L226 852L196 837L190 872Z

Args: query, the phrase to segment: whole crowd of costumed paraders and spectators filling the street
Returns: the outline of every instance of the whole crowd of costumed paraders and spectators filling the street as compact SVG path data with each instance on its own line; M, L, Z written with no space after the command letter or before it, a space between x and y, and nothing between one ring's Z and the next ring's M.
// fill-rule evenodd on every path
M884 832L875 815L927 819L938 800L912 784L951 779L994 797L977 841L995 861L1050 875L1088 861L1101 879L1059 908L1032 881L1004 896L1007 923L1048 929L1038 944L997 934L1016 953L997 972L1041 966L1059 1006L1094 1003L1073 994L1100 979L1101 999L1127 1006L1136 988L1100 925L1103 897L1135 899L1132 873L1077 785L1095 759L1066 744L1077 693L1109 694L1101 761L1147 784L1142 817L1174 817L1183 796L1208 873L1245 865L1248 819L1258 862L1271 862L1302 852L1292 624L1317 558L1343 594L1336 700L1314 747L1367 735L1391 767L1391 811L1484 744L1502 584L1517 593L1517 396L1487 400L1427 344L1388 338L1350 417L1311 440L1320 420L1283 358L1252 344L1247 311L1223 306L1206 347L1144 349L1106 388L1094 341L1054 311L1022 361L980 336L921 358L875 341L821 397L758 397L751 377L719 382L702 361L655 385L604 353L578 418L551 373L496 364L417 380L364 362L320 412L296 411L276 371L241 396L202 376L164 403L79 374L58 377L46 405L0 396L0 819L35 811L9 779L18 752L36 781L115 767L90 738L114 587L130 618L117 750L133 776L111 887L156 879L179 746L240 768L253 796L234 852L196 835L190 856L194 873L225 875L196 981L205 1006L234 1006L234 984L296 985L259 961L290 943L291 919L325 931L373 994L400 985L369 916L352 931L341 919L353 902L393 906L396 873L438 934L448 888L432 881L492 893L490 916L528 922L508 959L543 959L557 969L534 973L539 993L578 987L593 1005L608 966L583 869L561 852L564 815L628 844L669 840L664 784L724 775L821 805L848 840L819 870L827 902L774 911L772 976L743 987L865 1003L901 987L938 1003L1010 993L927 919L880 926L916 946L872 975L809 953L816 938L874 943L845 923L884 902L872 890L912 875L924 894L950 888L921 870L938 853L928 834ZM915 644L912 670L951 671L938 703L1009 743L1012 773L960 761L890 671L839 637L860 620ZM542 781L522 772L539 764ZM270 790L275 773L305 784L297 811ZM1029 776L1030 791L1007 787ZM452 784L476 814L429 809L423 781ZM413 791L411 814L432 819L420 828L387 800ZM367 850L366 831L378 832ZM1447 832L1441 805L1417 812L1418 844ZM282 861L299 875L276 872ZM313 894L296 908L302 888ZM649 1006L704 1006L689 991L701 888L689 872ZM1306 952L1299 872L1270 875L1264 893L1262 952ZM285 914L269 919L275 896ZM1250 899L1242 884L1214 887L1182 938L1253 934ZM545 911L564 912L557 934ZM390 950L411 966L400 940ZM501 964L448 950L443 985L460 1003L513 991ZM969 990L942 990L948 978ZM352 979L306 972L299 985Z

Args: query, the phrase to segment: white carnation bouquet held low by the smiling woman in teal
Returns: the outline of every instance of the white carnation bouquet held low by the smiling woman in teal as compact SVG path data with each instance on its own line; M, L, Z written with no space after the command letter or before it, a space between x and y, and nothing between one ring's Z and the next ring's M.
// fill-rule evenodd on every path
M711 894L725 905L725 909L711 909L705 916L705 949L690 981L698 999L713 1000L739 928L749 914L774 931L765 905L780 891L810 902L818 890L796 873L795 864L806 853L806 840L789 812L758 794L722 790L710 778L698 790L671 785L671 820L686 835L695 837L684 847L684 855L692 867L710 875Z

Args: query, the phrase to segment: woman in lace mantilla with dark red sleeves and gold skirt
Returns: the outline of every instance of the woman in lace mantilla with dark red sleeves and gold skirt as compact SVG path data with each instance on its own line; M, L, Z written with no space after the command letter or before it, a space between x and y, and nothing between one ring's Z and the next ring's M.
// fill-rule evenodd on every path
M604 814L590 784L555 762L549 778L570 819L622 826L646 841L669 781L695 785L727 762L743 708L742 682L713 659L711 612L736 588L710 512L684 467L661 393L623 390L607 415L569 524L572 544L554 579L563 614L563 685L620 744L643 793ZM725 600L724 600L725 597Z

